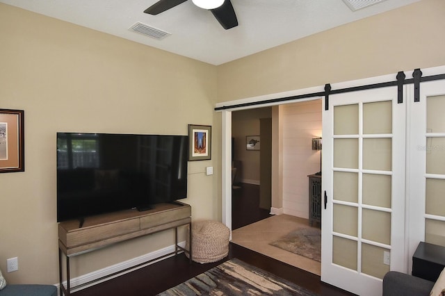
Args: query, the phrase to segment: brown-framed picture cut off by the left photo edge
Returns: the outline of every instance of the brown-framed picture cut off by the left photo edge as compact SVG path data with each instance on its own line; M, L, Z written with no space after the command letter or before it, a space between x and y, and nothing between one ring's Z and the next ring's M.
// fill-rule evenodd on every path
M24 111L0 109L0 173L24 172Z

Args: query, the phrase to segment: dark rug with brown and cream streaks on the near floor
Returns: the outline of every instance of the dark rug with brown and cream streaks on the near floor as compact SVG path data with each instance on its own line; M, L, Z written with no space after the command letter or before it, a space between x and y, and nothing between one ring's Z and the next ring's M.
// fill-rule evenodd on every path
M316 295L233 258L158 295Z

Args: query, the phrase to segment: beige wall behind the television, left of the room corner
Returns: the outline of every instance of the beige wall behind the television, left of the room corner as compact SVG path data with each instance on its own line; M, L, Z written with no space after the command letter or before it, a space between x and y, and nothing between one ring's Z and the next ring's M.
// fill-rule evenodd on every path
M0 268L8 282L58 282L57 131L186 135L187 124L213 126L212 160L189 163L184 202L193 219L221 219L215 66L5 4L0 44L0 108L24 110L25 119L26 171L0 175ZM72 277L173 242L170 231L79 256ZM6 259L15 256L19 270L7 273Z

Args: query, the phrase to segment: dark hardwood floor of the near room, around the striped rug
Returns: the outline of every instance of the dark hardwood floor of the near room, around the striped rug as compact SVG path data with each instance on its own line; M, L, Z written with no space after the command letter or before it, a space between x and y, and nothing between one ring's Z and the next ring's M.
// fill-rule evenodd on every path
M145 268L123 274L120 277L97 283L95 286L79 290L72 293L72 295L156 295L227 261L229 258L238 258L250 265L255 265L262 270L296 283L298 286L307 288L317 295L351 295L339 288L322 283L320 277L316 274L300 270L263 254L253 252L245 247L230 243L229 249L229 256L222 261L207 264L191 263L184 254L179 254L178 256L166 258L158 263L148 265Z

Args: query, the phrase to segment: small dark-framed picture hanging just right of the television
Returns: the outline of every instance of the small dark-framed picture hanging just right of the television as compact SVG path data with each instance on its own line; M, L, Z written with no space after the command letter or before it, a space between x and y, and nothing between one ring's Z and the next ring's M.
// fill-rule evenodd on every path
M211 126L188 124L188 161L211 159Z

